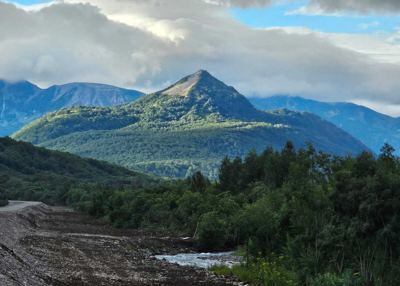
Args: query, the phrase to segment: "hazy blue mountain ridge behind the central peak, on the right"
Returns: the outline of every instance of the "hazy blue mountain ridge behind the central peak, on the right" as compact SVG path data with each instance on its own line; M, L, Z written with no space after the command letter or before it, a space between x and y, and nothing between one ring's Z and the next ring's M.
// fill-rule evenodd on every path
M320 102L302 97L273 96L250 98L258 109L272 110L287 108L310 111L347 131L375 153L385 142L390 143L400 155L400 117L394 118L362 105L348 102Z

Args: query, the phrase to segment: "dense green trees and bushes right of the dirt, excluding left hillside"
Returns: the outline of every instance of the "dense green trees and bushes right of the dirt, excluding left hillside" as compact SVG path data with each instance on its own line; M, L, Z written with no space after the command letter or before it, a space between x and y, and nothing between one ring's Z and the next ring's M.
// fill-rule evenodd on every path
M179 230L208 250L242 246L248 277L262 285L389 286L400 278L400 163L390 145L378 158L332 157L288 141L281 151L225 157L218 176L125 188L104 213L117 227Z

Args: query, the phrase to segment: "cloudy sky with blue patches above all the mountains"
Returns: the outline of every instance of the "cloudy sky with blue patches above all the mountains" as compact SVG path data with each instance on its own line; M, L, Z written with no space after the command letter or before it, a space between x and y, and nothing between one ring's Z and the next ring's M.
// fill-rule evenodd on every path
M247 97L400 116L398 0L0 0L0 78L157 91L206 69Z

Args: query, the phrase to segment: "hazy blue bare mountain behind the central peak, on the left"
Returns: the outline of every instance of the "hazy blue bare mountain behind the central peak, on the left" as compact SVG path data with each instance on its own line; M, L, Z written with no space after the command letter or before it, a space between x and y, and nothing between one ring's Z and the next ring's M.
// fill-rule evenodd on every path
M49 111L76 105L111 107L134 101L140 91L98 83L68 83L40 89L28 81L0 80L0 136L11 135Z

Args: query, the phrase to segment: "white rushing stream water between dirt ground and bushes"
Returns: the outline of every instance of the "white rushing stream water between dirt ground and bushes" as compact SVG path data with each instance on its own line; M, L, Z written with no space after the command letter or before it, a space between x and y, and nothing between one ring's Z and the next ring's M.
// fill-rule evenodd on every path
M231 256L232 252L220 252L220 253L182 253L177 255L156 255L157 259L165 258L171 263L178 263L180 265L190 265L207 268L214 264L224 264L226 266L232 266L238 263L236 257Z

